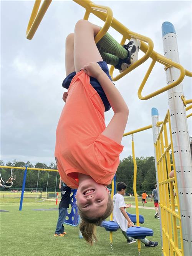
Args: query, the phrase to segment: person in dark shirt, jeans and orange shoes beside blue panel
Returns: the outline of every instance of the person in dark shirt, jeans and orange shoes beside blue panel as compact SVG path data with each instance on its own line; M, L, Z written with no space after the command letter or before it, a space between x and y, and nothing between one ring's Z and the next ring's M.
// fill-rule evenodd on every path
M61 190L61 201L59 204L59 218L57 221L56 231L54 236L64 236L66 232L64 232L65 227L63 226L63 223L65 221L65 217L67 214L67 208L69 208L70 205L70 194L71 194L71 188L68 186L61 186L61 178L60 178L60 184L59 188Z

